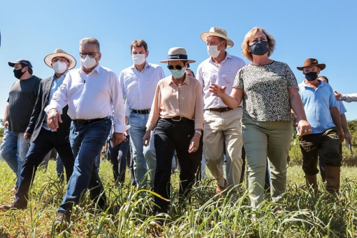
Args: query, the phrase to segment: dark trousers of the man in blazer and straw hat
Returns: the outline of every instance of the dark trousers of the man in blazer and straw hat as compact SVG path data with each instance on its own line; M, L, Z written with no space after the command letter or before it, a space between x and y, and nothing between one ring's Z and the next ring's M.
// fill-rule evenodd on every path
M36 140L31 143L29 151L25 157L25 163L22 166L20 175L20 185L17 188L15 194L15 203L21 206L27 205L27 200L29 198L28 193L32 181L35 178L37 168L42 162L43 158L50 152L53 148L56 149L57 153L62 159L63 165L66 170L67 182L72 175L74 166L74 157L69 142L62 142L57 137L57 132L48 131L41 128L39 135Z

